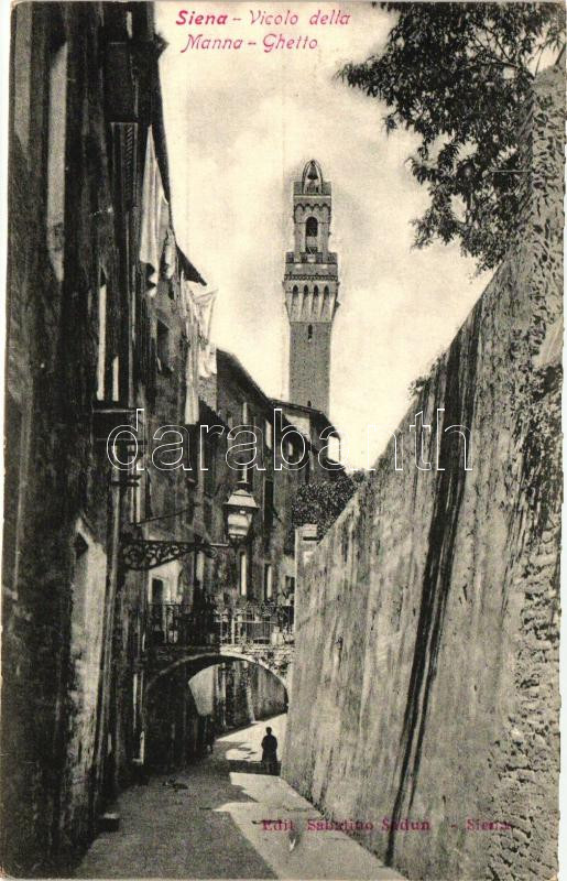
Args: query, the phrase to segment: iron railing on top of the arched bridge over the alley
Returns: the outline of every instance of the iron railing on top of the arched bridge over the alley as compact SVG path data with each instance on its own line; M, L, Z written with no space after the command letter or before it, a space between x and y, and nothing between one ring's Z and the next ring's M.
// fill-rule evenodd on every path
M160 645L285 645L293 642L293 607L248 603L241 608L190 608L184 603L151 603L148 639Z

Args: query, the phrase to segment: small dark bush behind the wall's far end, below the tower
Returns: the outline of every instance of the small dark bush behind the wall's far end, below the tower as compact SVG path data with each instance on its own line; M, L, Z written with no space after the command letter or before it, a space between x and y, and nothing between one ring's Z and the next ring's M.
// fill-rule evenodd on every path
M318 536L323 537L363 479L363 471L355 471L336 480L316 480L299 487L292 504L292 529L316 523Z

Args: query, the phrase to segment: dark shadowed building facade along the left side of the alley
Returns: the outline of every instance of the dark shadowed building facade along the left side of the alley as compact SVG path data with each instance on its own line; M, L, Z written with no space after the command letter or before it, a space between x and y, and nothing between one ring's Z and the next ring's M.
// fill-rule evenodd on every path
M143 748L149 585L122 536L193 488L106 440L137 410L197 422L203 280L172 225L152 6L21 3L11 43L2 855L42 874Z

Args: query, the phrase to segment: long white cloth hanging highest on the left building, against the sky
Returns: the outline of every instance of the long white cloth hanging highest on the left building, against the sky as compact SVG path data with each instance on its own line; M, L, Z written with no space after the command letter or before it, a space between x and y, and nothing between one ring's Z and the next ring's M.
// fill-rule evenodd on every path
M148 130L145 145L144 177L142 184L142 228L140 236L140 260L148 263L148 285L155 293L160 278L160 259L163 238L167 228L170 208L163 192L162 176L155 155L152 128ZM165 227L165 228L164 228Z

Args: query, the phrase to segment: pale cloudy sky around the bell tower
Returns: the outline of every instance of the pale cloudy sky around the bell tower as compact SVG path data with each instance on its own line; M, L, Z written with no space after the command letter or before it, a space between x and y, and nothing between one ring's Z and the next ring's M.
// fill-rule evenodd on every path
M217 289L216 344L272 396L286 394L284 254L293 247L292 182L317 159L332 184L331 250L340 307L331 348L330 413L348 467L372 464L403 414L411 381L447 347L489 276L458 246L412 249L428 204L405 160L418 140L386 137L384 106L336 73L380 50L394 19L370 3L155 3L177 239ZM176 24L226 14L227 24ZM339 10L347 24L312 24ZM298 22L251 23L251 14ZM233 21L240 19L240 21ZM240 50L188 48L188 35L242 39ZM264 52L265 35L316 48ZM252 41L255 45L249 45ZM368 425L374 425L368 443Z

